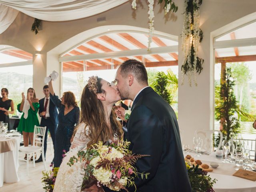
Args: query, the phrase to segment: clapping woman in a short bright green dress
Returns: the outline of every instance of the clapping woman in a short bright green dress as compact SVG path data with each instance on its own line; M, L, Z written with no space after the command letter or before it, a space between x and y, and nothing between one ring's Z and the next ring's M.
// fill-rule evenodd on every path
M27 98L25 98L22 92L22 102L18 104L17 109L19 112L23 112L20 123L18 125L18 131L22 132L24 146L28 146L28 139L33 144L34 126L39 126L37 112L39 109L38 98L33 88L28 88ZM25 156L24 159L27 159Z

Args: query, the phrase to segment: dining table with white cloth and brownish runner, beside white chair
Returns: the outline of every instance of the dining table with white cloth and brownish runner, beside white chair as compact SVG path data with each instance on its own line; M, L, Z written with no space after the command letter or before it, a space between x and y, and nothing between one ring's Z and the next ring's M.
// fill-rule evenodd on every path
M18 132L0 134L0 187L6 183L18 182L19 147L21 134Z

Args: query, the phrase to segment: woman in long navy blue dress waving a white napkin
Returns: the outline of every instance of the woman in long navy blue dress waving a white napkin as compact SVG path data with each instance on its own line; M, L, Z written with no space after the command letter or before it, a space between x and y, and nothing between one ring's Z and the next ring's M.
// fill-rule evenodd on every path
M74 93L64 92L62 98L58 98L54 94L52 80L49 82L50 99L58 107L59 124L55 135L54 146L54 167L59 167L64 151L68 152L71 146L70 139L72 138L74 127L78 125L80 110L76 103Z

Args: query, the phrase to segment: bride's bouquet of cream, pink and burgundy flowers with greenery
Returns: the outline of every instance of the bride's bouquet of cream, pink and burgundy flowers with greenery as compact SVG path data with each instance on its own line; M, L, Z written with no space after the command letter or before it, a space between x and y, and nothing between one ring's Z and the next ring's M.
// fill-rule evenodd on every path
M147 179L149 173L138 173L133 166L139 158L147 155L132 154L132 151L128 150L129 145L130 142L124 140L110 141L107 145L98 142L92 145L92 148L78 151L77 156L71 157L69 166L79 161L84 165L82 189L88 187L90 179L96 180L99 187L103 185L114 191L126 190L126 186L135 186L133 180L138 174L142 179Z

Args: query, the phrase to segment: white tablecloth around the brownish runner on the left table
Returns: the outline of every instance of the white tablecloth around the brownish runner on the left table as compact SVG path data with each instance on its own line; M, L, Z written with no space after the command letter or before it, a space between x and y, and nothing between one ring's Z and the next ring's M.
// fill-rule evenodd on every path
M0 153L0 187L4 182L13 183L20 180L18 177L20 137L12 137L16 140L14 151Z

